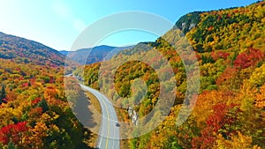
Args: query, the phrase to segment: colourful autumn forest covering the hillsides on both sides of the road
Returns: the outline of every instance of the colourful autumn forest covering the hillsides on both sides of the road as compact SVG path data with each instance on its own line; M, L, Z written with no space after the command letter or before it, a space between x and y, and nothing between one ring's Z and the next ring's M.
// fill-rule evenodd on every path
M180 55L187 62L193 60L177 52L188 47L185 41L193 48L199 63L200 88L191 115L177 126L181 107L193 104L184 104L188 81ZM153 50L159 51L170 63L174 72L170 80L176 82L163 84L176 88L176 99L170 113L155 130L139 138L121 140L121 148L265 148L264 1L245 7L188 13L156 41L122 50L104 63L104 67L112 68L119 61L139 56L158 62ZM90 143L91 139L96 141L93 132L79 122L66 98L77 92L76 88L81 89L74 81L65 82L64 75L72 73L83 78L85 85L99 89L102 63L79 65L64 59L62 54L40 43L0 33L0 148L95 147ZM193 65L188 69L192 68ZM147 86L140 104L132 97L133 89L142 90L142 86L131 88L136 78L141 78ZM110 80L103 78L102 81ZM159 102L160 82L147 63L128 61L117 69L114 82L106 91L110 101L118 107L134 105L140 117L148 115ZM65 84L75 87L65 92ZM71 98L79 99L79 96ZM116 110L119 121L130 121L127 109ZM152 116L158 115L163 113L156 111ZM151 127L150 123L146 124Z

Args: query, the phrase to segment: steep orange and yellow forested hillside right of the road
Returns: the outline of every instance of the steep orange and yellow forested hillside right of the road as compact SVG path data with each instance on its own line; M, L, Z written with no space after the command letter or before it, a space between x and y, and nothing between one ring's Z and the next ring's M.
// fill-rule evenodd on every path
M148 115L159 99L159 79L147 63L131 61L133 57L152 57L160 51L172 67L176 79L176 100L163 123L140 138L128 140L128 148L265 148L265 2L220 11L193 12L176 24L150 48L126 50L104 67L129 60L117 69L115 85L108 96L118 106L134 105L140 117ZM193 20L194 19L194 20ZM186 29L188 27L188 29ZM192 45L200 65L200 93L192 115L186 123L176 126L178 112L185 99L186 69L175 49L186 48L186 38ZM138 46L136 46L138 47ZM102 63L75 71L88 86L99 88L98 72ZM167 70L161 70L167 71ZM141 78L148 87L141 103L135 98L124 101L115 96L132 97L131 85ZM102 81L110 81L108 78ZM172 86L166 84L166 86ZM175 85L174 85L175 86ZM139 86L140 87L140 86ZM191 100L192 101L192 100ZM188 103L186 106L190 106ZM118 109L128 121L125 109ZM159 114L157 111L156 115Z

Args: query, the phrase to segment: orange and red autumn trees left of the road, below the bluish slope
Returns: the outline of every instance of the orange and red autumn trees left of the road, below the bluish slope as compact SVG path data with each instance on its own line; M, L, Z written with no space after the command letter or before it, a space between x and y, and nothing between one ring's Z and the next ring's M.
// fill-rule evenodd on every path
M0 81L0 148L89 148L90 131L65 98L63 66L0 59Z

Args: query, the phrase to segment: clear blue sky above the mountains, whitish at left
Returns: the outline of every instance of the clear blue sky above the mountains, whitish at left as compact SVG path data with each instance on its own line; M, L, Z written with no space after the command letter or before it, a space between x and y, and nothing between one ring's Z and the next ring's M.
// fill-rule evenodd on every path
M0 32L39 41L57 50L69 50L86 26L117 12L147 11L175 23L191 11L218 10L254 2L256 0L0 0ZM110 36L101 44L121 46L155 38L152 34L128 32Z

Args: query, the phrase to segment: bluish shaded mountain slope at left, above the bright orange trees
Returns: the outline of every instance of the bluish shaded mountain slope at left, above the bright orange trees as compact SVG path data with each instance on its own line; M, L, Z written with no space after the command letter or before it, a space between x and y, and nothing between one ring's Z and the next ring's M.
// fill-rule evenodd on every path
M65 56L42 43L0 32L0 58L41 65L64 65Z

